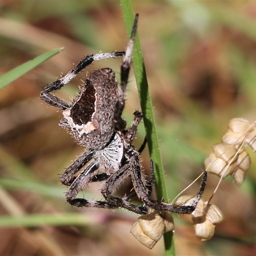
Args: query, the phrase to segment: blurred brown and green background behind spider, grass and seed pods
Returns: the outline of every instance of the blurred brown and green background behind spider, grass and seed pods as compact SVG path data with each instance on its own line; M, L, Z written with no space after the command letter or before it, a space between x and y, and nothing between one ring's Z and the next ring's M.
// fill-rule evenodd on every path
M140 14L138 33L157 122L170 202L204 168L234 117L255 120L255 1L132 1ZM0 255L163 255L159 241L149 250L131 234L136 214L77 209L66 204L59 175L83 148L59 128L61 113L39 99L42 87L66 74L81 57L122 51L127 36L119 1L0 1L0 75L44 52L61 53L0 93ZM70 100L94 63L57 94ZM124 117L140 109L133 71ZM140 125L138 148L144 139ZM215 236L201 242L188 216L175 218L177 255L255 255L256 161L241 188L222 181L212 203L225 215ZM149 156L141 156L149 173ZM210 176L204 199L218 183ZM101 184L84 189L101 199ZM196 194L199 182L186 191ZM117 192L129 192L124 182ZM153 196L154 193L153 193ZM16 218L15 218L16 217ZM18 218L19 217L19 218Z

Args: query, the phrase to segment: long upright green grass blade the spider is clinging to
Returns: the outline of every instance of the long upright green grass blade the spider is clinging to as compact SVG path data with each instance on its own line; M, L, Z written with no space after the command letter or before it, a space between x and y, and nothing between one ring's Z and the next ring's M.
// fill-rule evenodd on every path
M120 0L122 11L124 14L124 22L128 34L130 37L134 13L132 9L131 1L129 0ZM139 18L140 20L140 18ZM139 21L140 22L140 21ZM142 50L140 46L138 33L135 37L132 61L134 67L134 73L136 78L136 83L138 87L139 97L140 97L140 106L143 113L143 121L145 125L146 136L148 139L148 149L151 159L154 161L155 165L155 187L156 195L158 200L164 200L167 202L168 195L164 179L164 168L162 164L162 158L159 151L158 137L156 132L156 123L153 113L152 102L148 89L148 81L146 76L146 70L144 66L144 60L142 56ZM172 232L167 232L164 234L164 244L165 244L165 253L166 255L175 255L175 247L173 243Z

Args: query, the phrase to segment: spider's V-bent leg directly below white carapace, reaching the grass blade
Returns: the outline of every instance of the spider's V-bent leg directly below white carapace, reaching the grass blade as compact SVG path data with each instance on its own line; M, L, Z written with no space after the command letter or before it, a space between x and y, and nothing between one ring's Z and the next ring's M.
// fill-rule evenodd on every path
M117 172L115 172L106 182L105 186L102 188L101 193L105 199L111 204L117 207L123 207L131 212L146 214L148 209L145 207L139 207L137 205L127 202L124 198L119 198L112 196L111 193L116 189L116 187L131 174L130 164L125 164ZM129 199L129 197L127 197Z

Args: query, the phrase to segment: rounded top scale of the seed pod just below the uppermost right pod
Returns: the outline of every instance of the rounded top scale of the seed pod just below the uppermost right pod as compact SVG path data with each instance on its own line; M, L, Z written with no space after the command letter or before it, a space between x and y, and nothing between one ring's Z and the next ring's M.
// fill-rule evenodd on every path
M229 143L218 143L212 146L212 151L217 158L221 158L227 164L234 163L237 160L237 149L234 145Z

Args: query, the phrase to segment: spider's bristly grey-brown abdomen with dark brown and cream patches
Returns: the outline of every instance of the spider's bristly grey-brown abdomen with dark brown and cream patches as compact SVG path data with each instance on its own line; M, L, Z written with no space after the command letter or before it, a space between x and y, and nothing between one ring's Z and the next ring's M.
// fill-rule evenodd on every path
M68 130L85 147L91 148L93 143L94 148L101 149L111 139L117 94L115 72L101 68L86 78L71 107L63 111Z

